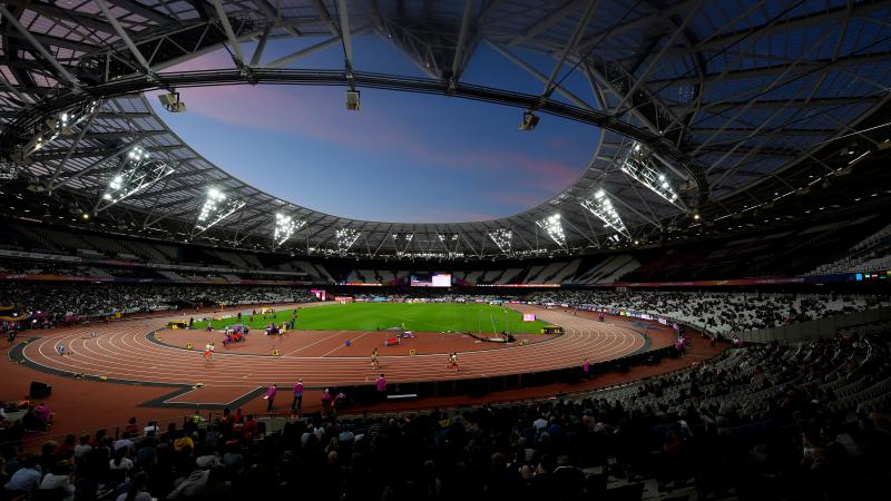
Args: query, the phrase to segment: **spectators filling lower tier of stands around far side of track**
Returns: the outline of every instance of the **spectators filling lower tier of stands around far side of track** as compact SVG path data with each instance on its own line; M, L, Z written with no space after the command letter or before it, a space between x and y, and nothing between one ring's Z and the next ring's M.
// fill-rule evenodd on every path
M546 291L523 294L518 291L493 294L490 291L438 291L430 288L366 291L344 288L333 295L355 301L423 301L446 303L529 302L542 305L568 305L588 310L633 311L667 317L728 336L744 331L776 327L793 322L822 318L871 308L891 306L891 297L841 294L777 294L763 292L616 292ZM0 284L0 306L18 312L45 312L41 326L65 318L89 318L135 312L177 310L217 304L268 304L312 302L307 288L291 286L238 285L146 285L117 283L7 283Z

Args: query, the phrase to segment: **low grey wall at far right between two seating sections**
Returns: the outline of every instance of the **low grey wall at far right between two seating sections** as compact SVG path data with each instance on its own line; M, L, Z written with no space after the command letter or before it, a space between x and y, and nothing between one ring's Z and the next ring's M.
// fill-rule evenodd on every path
M891 308L866 310L780 327L745 331L740 333L740 338L746 343L771 343L776 341L781 344L794 344L832 338L836 336L840 328L884 321L891 321Z

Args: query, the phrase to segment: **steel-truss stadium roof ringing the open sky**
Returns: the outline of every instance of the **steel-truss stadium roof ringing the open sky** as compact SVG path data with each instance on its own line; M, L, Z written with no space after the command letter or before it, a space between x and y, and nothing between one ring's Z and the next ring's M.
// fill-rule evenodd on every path
M309 254L488 258L654 238L699 215L772 204L850 163L826 150L859 159L878 149L856 128L891 87L889 1L10 0L0 17L0 146L32 189L158 236ZM388 40L427 78L354 70L359 35ZM286 38L310 45L266 61L265 42ZM294 69L335 45L343 70ZM538 78L541 94L463 82L482 45ZM224 47L228 68L167 70ZM561 87L567 72L590 91ZM264 82L487 100L517 107L518 122L520 110L552 114L604 134L575 184L521 214L355 220L234 178L143 94ZM139 161L137 146L148 154ZM210 189L227 198L208 203Z

